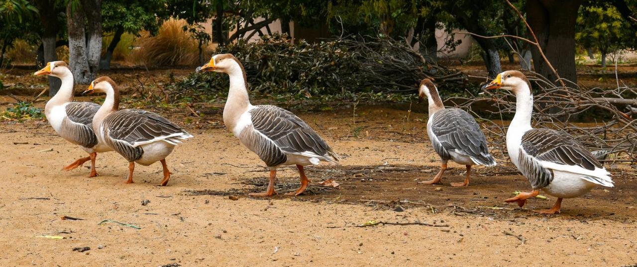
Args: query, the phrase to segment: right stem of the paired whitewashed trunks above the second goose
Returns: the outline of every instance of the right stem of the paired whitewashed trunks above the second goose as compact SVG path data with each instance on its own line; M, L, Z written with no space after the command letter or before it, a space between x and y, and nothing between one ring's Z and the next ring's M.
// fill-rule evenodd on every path
M82 6L88 24L86 54L89 62L90 83L97 78L99 58L102 54L102 0L84 0Z

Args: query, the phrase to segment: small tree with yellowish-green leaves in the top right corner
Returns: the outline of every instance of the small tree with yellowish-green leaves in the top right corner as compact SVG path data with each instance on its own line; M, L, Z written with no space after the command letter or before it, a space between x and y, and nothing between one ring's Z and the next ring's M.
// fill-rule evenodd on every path
M610 4L580 8L576 27L577 43L599 50L602 67L606 67L608 53L630 46L636 37L619 11Z

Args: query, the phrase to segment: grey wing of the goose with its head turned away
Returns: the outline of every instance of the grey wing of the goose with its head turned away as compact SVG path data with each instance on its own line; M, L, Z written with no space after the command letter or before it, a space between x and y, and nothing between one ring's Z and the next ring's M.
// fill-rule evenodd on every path
M436 144L433 141L434 149L439 146L440 150L469 156L477 164L496 165L496 160L489 154L487 138L469 113L462 109L443 109L435 113L431 120L431 132L439 142ZM444 157L443 154L440 156Z

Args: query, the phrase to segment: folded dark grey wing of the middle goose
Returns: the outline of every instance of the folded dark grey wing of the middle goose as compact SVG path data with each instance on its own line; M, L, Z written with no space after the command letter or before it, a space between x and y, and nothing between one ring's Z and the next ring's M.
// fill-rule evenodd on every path
M290 111L264 105L250 110L250 116L254 129L275 142L284 153L310 153L318 159L338 161L327 142Z

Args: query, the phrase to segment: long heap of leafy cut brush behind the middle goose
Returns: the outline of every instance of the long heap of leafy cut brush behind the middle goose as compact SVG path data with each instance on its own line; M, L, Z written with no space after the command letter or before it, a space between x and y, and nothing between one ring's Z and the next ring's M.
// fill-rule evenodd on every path
M337 95L348 92L417 92L421 79L446 86L465 83L461 72L430 64L403 41L357 37L290 43L287 36L239 41L215 53L232 53L248 76L250 91L261 94ZM224 74L225 75L225 74ZM225 92L228 79L218 73L193 73L171 88L180 95Z

